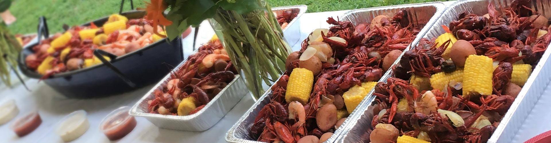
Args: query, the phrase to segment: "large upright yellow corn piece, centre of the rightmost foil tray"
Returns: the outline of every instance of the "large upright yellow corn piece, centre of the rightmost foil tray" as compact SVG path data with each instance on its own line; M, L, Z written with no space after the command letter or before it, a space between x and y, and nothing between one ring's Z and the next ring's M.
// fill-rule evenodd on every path
M463 73L463 96L471 94L491 95L493 75L492 59L472 54L465 61Z

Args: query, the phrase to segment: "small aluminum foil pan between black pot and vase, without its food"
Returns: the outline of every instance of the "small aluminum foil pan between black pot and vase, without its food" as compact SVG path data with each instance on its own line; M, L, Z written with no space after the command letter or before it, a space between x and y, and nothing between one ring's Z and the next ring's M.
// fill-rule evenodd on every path
M195 51L194 53L196 53ZM173 71L180 69L185 63L180 63ZM224 87L220 93L215 96L203 109L189 116L172 116L162 114L152 114L147 111L147 101L152 100L155 96L153 91L163 89L170 80L170 74L166 75L153 89L149 90L129 111L131 116L144 117L149 122L155 124L159 128L185 130L185 131L204 131L218 123L237 102L243 98L249 90L245 86L245 81L240 75L235 75L228 86Z

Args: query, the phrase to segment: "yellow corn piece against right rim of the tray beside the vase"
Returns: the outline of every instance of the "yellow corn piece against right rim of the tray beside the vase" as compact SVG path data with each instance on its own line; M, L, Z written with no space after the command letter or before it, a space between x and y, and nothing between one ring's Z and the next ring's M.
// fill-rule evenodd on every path
M368 90L365 90L364 87L358 85L344 92L344 105L346 106L348 113L352 113L352 111L354 111L354 109L360 104L361 100L364 100L364 97L367 96L368 93Z

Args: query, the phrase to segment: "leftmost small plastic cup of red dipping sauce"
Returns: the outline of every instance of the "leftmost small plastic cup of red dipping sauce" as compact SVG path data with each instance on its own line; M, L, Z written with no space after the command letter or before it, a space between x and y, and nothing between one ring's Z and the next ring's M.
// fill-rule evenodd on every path
M23 116L17 120L12 125L12 129L17 134L17 136L25 136L33 132L39 125L42 124L42 119L40 114L34 111L30 114Z

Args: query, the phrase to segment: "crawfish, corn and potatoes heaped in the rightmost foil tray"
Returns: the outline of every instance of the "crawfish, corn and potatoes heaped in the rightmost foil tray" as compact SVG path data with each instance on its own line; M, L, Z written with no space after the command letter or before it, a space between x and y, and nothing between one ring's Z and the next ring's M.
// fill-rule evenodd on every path
M375 86L370 141L487 142L551 40L525 4L460 14L405 52L395 78Z

